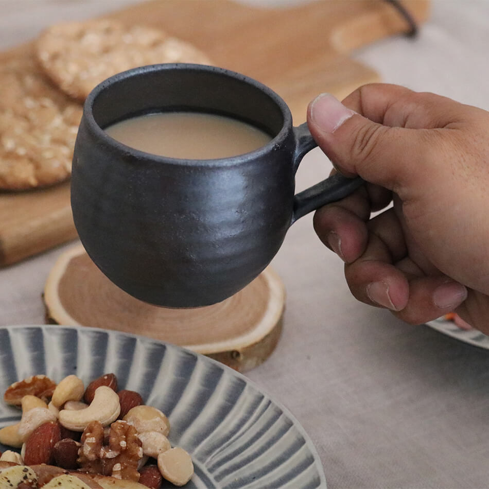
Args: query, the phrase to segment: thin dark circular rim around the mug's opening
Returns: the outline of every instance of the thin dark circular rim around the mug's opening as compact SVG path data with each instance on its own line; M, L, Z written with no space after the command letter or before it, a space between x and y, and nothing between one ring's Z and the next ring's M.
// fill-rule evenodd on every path
M142 151L132 146L128 146L124 143L121 143L117 139L110 136L104 129L100 127L100 125L95 120L93 115L93 105L96 98L103 92L110 88L110 86L118 81L125 80L127 78L137 76L140 74L146 74L150 72L164 72L167 70L194 70L194 71L204 71L204 72L213 72L220 75L224 75L230 78L234 78L239 81L246 82L258 90L264 92L276 106L280 109L283 115L283 123L281 130L272 137L272 139L264 146L261 146L253 151L249 151L247 153L237 154L234 156L228 156L224 158L213 158L213 159L186 159L186 158L171 158L170 156L163 156L159 154L149 153L146 151ZM243 161L248 161L250 159L255 159L261 155L268 153L273 150L274 147L280 145L287 138L291 128L292 128L292 114L287 103L284 99L274 92L267 85L251 78L247 75L243 75L238 72L234 72L230 69L220 68L218 66L204 65L204 64L194 64L194 63L160 63L160 64L151 64L138 66L135 68L128 69L124 72L117 73L106 80L103 80L98 85L95 86L94 89L90 92L90 94L86 97L85 102L83 103L83 116L82 118L85 120L85 123L88 125L88 129L93 133L95 137L106 143L110 146L118 148L120 151L125 154L133 155L138 160L146 159L152 162L164 162L166 164L177 164L177 165L199 165L202 162L205 162L206 166L214 164L218 164L222 166L226 165L235 165L238 163L242 163Z

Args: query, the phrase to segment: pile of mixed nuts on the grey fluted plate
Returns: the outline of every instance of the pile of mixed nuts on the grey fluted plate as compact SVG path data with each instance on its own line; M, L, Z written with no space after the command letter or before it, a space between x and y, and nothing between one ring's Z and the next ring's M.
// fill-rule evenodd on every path
M158 488L162 479L184 485L194 474L189 454L168 441L165 414L135 391L118 390L114 374L84 387L76 375L58 385L45 375L13 383L6 403L21 407L19 423L0 429L1 462L55 465ZM36 486L34 486L36 487Z

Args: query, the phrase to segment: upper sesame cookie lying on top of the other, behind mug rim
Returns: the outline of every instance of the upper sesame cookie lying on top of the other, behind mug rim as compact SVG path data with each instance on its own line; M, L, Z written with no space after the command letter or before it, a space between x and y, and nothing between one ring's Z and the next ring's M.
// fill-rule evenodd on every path
M38 38L36 53L45 73L78 100L106 78L137 66L209 63L194 46L161 30L114 20L54 25Z

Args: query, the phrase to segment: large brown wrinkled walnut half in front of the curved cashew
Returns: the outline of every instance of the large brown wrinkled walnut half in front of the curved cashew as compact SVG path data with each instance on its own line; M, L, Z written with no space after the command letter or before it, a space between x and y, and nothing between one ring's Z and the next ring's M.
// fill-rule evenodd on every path
M137 482L137 465L143 457L141 440L135 428L125 421L112 423L109 444L104 444L104 430L98 421L83 431L78 451L80 468L90 473Z

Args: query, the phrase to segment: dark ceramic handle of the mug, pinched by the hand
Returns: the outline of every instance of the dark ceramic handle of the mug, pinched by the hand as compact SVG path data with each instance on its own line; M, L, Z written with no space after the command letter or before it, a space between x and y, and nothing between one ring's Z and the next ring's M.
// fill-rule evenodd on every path
M294 172L297 171L299 163L304 155L311 149L316 148L317 143L311 136L307 123L293 128L295 134ZM293 224L300 217L331 202L347 197L364 183L360 177L346 178L336 173L331 177L306 188L294 196L294 208L292 213Z

